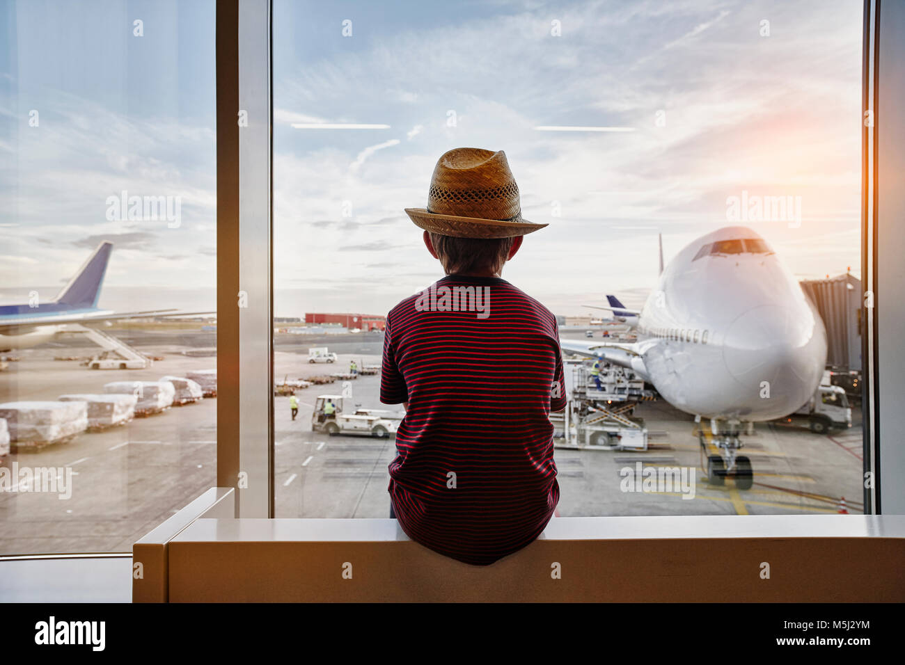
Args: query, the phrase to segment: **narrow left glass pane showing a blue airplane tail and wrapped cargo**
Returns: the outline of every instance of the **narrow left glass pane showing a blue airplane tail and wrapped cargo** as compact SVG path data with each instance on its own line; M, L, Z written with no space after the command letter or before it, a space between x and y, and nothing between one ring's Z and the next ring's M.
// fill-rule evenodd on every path
M0 554L127 552L216 482L214 2L0 32Z

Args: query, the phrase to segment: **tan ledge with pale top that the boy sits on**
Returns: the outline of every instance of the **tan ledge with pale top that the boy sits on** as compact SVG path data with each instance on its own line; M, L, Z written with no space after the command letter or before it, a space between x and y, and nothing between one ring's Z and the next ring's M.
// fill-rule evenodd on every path
M233 518L211 489L155 529L136 601L895 602L905 516L554 518L488 566L405 536L395 519ZM204 500L202 500L204 499ZM205 508L207 506L208 508Z

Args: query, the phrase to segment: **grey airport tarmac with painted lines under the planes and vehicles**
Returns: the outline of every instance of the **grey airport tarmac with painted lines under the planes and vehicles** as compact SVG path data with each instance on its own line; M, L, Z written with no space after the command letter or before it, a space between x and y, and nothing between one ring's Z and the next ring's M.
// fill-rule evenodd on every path
M85 356L94 349L67 339L17 352L17 362L0 372L0 403L55 400L65 393L102 393L111 381L157 380L213 368L215 357L184 356L186 349L213 347L211 333L130 330L113 334L143 353L163 356L144 370L96 370L54 356ZM576 336L580 337L580 336ZM274 376L281 382L347 372L380 362L379 333L275 338ZM308 348L327 346L336 364L308 362ZM351 382L354 401L364 407L401 409L379 402L379 375ZM288 397L274 397L274 490L278 518L387 518L387 465L395 457L392 437L337 435L311 431L319 394L338 394L341 382L311 385L297 393L293 421ZM853 428L818 435L775 423L757 423L743 436L754 485L738 489L729 480L710 485L700 469L700 447L691 415L665 401L640 404L651 434L647 451L557 449L561 498L557 517L612 515L731 515L835 513L845 498L849 513L861 512L861 412L853 404ZM152 528L214 486L215 398L172 407L164 413L103 432L84 432L70 442L40 451L0 457L0 466L71 469L71 498L42 492L0 492L0 554L127 552ZM640 462L640 466L638 466ZM644 490L626 481L626 470L685 469L691 482L672 491ZM692 471L693 470L693 471ZM691 473L693 472L693 479Z

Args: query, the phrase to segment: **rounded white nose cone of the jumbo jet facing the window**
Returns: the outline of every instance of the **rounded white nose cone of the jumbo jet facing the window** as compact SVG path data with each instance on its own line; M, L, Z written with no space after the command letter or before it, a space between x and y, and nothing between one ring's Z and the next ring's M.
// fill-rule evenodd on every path
M808 309L778 305L748 309L729 327L723 345L729 373L752 397L761 417L779 418L800 408L823 375L826 333ZM766 383L765 383L766 382Z

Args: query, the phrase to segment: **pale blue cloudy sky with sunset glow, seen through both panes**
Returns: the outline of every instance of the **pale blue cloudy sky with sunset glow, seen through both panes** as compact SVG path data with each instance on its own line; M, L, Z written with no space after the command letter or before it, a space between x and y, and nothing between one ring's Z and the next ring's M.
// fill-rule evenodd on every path
M0 10L0 300L52 296L109 239L102 305L211 306L214 3ZM640 306L657 234L669 261L735 223L727 201L743 193L800 202L800 223L748 225L802 279L859 271L854 0L273 12L277 316L382 314L441 277L403 209L426 204L437 158L465 146L504 150L523 216L549 224L503 277L558 314L605 293ZM324 123L388 127L292 127ZM627 130L537 129L549 126ZM123 190L178 198L177 227L108 219Z

